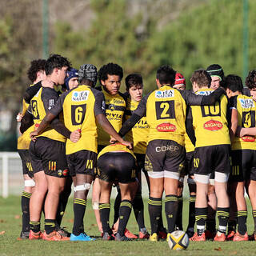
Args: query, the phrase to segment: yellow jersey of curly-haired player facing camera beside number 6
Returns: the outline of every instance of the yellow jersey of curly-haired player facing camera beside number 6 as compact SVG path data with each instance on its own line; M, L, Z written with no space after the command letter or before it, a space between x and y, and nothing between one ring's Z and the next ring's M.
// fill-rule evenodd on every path
M106 90L101 89L106 100L106 118L110 121L114 130L117 132L122 127L124 113L126 110L126 101L121 93L110 95ZM110 144L110 135L98 125L98 145L107 146Z

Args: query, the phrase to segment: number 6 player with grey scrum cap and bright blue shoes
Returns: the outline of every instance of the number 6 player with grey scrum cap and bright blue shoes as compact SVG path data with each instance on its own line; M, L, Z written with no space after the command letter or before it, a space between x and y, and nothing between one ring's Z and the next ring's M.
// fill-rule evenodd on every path
M91 64L82 65L78 75L79 86L61 95L56 105L42 120L38 130L30 136L38 136L62 111L65 126L80 134L78 142L66 142L66 157L74 182L74 226L70 241L92 241L94 238L84 232L83 218L97 159L96 119L106 133L118 142L129 148L132 148L132 145L124 141L106 119L104 95L93 88L97 82L96 67Z

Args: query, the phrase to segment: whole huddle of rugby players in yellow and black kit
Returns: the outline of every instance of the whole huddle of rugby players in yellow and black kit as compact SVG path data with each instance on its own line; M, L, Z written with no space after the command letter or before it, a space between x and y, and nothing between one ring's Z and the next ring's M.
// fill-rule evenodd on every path
M186 90L182 74L160 66L157 88L143 95L140 74L125 78L108 63L74 69L58 54L34 60L27 72L32 85L23 96L18 153L22 158L20 239L94 241L86 234L87 194L102 240L170 239L182 226L182 190L190 190L191 241L256 239L256 70L242 79L224 76L213 64L195 70ZM99 81L100 86L95 87ZM254 101L255 100L255 101ZM149 234L144 223L142 172L149 188ZM74 188L71 234L62 217ZM114 222L110 226L110 194ZM246 199L253 209L254 234L246 230ZM167 228L162 222L165 192ZM131 210L138 236L126 229ZM40 219L44 214L44 231ZM218 228L216 228L216 213ZM194 230L196 222L197 230Z

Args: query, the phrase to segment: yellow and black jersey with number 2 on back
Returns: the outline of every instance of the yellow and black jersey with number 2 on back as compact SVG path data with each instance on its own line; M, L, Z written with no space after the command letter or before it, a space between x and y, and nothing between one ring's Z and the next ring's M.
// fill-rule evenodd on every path
M133 116L142 118L145 114L149 125L148 142L165 139L184 146L186 102L179 90L162 86L147 94Z

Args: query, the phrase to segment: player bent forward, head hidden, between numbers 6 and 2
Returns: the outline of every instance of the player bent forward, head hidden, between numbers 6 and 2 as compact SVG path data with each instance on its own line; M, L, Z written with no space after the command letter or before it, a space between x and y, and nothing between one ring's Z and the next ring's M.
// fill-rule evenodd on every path
M118 232L115 241L129 241L125 235L125 229L130 218L132 198L134 191L138 189L136 182L136 157L126 146L115 143L98 154L98 178L101 186L99 212L102 221L103 240L113 240L113 231L109 226L110 218L110 194L114 182L118 182L121 191L121 204L119 207Z

